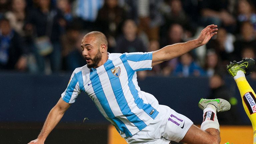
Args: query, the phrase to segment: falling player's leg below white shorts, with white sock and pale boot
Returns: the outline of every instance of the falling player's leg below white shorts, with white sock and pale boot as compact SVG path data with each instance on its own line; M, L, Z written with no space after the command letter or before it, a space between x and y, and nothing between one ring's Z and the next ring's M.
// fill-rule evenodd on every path
M192 125L181 142L188 144L219 144L220 128L216 113L229 110L229 102L223 99L201 99L198 106L204 111L201 129Z

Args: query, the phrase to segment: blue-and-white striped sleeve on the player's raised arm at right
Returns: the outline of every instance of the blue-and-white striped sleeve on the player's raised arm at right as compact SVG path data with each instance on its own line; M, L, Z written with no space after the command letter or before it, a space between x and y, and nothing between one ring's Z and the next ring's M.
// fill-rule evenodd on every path
M134 71L152 69L152 52L125 53L127 61Z

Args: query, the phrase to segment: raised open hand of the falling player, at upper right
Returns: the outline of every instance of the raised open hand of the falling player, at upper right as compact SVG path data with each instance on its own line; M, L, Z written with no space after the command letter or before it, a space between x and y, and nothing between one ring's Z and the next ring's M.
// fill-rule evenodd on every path
M197 40L199 41L200 45L205 45L214 35L217 34L217 25L208 25L204 28Z

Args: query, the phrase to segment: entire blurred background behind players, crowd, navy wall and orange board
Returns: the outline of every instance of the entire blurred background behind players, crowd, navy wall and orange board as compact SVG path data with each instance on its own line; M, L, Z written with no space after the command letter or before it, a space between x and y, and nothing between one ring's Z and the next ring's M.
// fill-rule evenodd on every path
M231 110L218 114L221 143L252 143L226 64L256 58L255 6L255 0L0 0L0 144L37 137L72 71L86 64L80 42L87 32L106 34L109 52L146 52L194 39L209 24L219 31L207 45L138 72L139 85L199 126L200 98L228 100ZM253 89L255 80L256 68L248 76ZM46 144L125 143L109 124L83 93Z

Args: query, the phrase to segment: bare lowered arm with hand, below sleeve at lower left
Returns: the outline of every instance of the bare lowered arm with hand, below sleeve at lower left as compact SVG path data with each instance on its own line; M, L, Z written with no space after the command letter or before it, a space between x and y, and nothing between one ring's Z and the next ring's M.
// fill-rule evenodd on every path
M58 124L69 106L69 103L66 103L62 100L62 98L60 98L57 104L52 108L49 115L47 116L44 126L37 139L29 142L28 144L44 144L45 139L53 130L53 128Z

